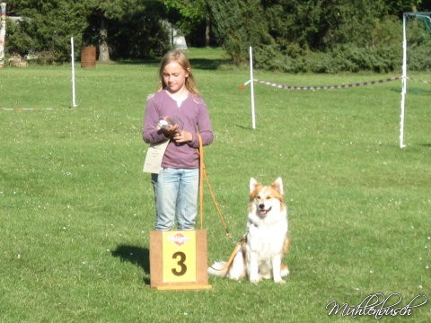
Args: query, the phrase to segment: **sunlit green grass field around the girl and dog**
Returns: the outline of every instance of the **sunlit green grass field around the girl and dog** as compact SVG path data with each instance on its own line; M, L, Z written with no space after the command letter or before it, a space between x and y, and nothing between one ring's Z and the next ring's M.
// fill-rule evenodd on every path
M76 109L70 66L4 68L0 321L332 322L350 317L329 316L330 301L358 306L376 292L399 293L395 307L429 299L431 86L409 83L401 150L400 82L314 92L256 83L253 130L250 88L238 91L248 69L228 65L216 49L189 57L215 131L208 177L234 237L245 231L250 177L284 180L286 284L210 277L210 291L148 287L154 196L142 172L141 129L156 63L78 66ZM287 85L389 76L255 71ZM208 258L226 259L233 243L207 190L204 206ZM383 319L429 322L431 301Z

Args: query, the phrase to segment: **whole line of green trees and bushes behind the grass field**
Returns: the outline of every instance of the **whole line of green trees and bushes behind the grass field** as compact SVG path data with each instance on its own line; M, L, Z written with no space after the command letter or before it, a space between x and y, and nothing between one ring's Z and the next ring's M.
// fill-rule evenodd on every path
M234 64L254 49L257 68L337 73L398 70L402 14L431 11L431 0L10 0L6 55L41 63L94 45L101 61L160 57L171 47L166 22L189 46L223 47ZM411 21L411 22L410 22ZM409 21L409 68L431 69L431 33Z

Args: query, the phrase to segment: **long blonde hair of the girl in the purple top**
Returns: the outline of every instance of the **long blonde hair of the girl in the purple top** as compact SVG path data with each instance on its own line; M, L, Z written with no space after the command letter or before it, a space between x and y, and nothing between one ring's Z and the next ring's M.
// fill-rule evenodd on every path
M163 70L164 66L176 62L181 65L182 68L184 68L185 71L189 73L189 76L186 77L185 86L186 89L191 93L195 95L199 95L198 87L196 86L195 79L193 77L193 74L191 73L191 66L189 59L186 57L184 52L180 49L173 49L169 52L167 52L164 57L162 58L162 62L160 63L160 69L159 69L159 84L157 86L157 92L163 90L167 84L163 81Z

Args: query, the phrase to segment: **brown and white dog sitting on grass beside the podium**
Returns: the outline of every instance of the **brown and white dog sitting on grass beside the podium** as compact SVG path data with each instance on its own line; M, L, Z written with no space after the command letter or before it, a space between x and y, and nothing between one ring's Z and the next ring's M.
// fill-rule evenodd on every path
M289 274L282 258L287 252L287 207L282 179L268 186L250 179L250 204L247 233L232 261L216 262L208 268L211 275L234 280L248 278L258 283L262 278L273 278L286 283L282 277Z

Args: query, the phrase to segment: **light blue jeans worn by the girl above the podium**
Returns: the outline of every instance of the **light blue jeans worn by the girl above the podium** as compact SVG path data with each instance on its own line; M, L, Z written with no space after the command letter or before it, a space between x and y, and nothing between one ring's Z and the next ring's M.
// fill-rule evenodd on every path
M155 230L194 230L198 214L198 169L163 169L152 174L155 196Z

